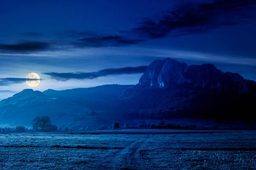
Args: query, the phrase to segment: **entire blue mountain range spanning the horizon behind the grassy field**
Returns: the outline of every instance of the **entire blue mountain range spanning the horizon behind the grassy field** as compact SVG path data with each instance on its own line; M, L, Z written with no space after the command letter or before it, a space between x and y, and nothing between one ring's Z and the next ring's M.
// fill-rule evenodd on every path
M212 64L187 65L166 58L148 65L137 85L23 90L0 101L0 120L13 125L27 125L42 115L59 125L72 121L109 125L115 120L123 124L128 119L251 120L255 97L256 82L240 74L224 73ZM99 114L84 116L91 110Z

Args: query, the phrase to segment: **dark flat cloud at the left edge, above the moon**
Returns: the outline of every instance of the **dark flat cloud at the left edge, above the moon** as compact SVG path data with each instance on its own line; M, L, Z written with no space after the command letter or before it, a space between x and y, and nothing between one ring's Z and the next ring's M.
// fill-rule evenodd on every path
M49 50L50 44L47 42L21 42L17 44L0 44L0 51L4 53L29 53L35 51Z

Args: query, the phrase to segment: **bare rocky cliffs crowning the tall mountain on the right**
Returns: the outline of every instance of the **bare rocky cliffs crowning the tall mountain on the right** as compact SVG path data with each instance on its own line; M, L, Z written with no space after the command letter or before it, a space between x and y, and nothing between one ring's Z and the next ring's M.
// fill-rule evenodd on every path
M152 62L138 85L170 88L189 84L189 90L237 91L250 90L245 79L237 73L222 72L212 64L187 65L175 59L166 58Z

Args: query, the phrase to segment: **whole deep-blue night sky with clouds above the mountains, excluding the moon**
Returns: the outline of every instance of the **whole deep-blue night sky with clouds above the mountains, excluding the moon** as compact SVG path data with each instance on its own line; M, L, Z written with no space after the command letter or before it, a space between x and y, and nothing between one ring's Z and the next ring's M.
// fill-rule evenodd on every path
M0 99L34 90L137 84L154 59L256 80L255 0L1 0Z

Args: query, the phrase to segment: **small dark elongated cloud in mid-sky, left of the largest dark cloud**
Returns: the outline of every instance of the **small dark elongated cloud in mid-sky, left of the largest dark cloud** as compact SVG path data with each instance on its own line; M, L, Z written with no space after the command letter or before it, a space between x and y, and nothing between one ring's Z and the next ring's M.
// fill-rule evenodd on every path
M110 36L96 36L96 37L82 37L74 44L77 47L119 47L123 45L132 45L143 42L140 39L129 39L124 36L110 35Z

